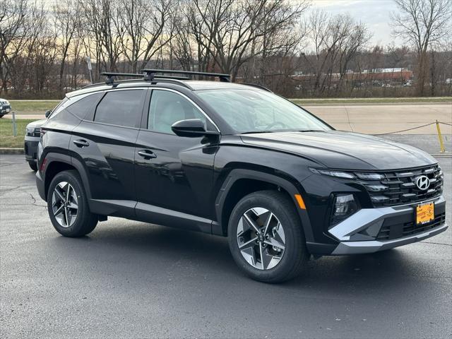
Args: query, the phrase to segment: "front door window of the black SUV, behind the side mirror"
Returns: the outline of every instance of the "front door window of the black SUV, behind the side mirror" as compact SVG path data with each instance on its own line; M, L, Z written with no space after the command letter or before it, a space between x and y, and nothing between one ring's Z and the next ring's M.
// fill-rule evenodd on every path
M168 90L153 90L150 99L148 129L161 133L173 133L174 122L184 119L201 119L206 124L206 117L189 100Z

